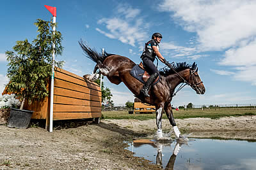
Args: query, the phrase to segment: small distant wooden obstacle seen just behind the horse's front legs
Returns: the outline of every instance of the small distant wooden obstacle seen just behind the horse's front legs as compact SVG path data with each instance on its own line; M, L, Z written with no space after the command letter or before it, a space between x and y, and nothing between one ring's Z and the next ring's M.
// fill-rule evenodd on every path
M134 99L134 110L133 113L156 113L156 107L141 103L140 99Z

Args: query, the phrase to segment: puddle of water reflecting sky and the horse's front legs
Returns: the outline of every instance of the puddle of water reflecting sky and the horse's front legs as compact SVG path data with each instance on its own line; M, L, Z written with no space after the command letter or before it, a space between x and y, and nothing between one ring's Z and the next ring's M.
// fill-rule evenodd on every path
M129 143L127 150L163 169L256 169L256 143L237 140L189 139Z

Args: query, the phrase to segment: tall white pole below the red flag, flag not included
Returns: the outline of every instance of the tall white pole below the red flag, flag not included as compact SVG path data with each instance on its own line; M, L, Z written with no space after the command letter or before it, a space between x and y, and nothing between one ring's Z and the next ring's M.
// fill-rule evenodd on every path
M56 23L56 17L53 16L52 23ZM56 26L52 28L53 34L55 34ZM52 43L52 78L51 78L51 103L50 103L50 127L49 132L52 132L52 122L53 122L53 89L54 89L54 58L55 58L55 44Z

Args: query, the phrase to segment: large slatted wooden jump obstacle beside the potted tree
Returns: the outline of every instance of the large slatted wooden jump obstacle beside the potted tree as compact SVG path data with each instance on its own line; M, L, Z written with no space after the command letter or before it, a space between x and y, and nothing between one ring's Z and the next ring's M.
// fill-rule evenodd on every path
M7 94L6 89L3 94ZM34 111L31 118L46 119L46 122L49 122L50 95L45 97L44 101L35 101L30 105L26 102L24 110ZM64 69L55 68L53 120L100 117L101 90L99 85Z

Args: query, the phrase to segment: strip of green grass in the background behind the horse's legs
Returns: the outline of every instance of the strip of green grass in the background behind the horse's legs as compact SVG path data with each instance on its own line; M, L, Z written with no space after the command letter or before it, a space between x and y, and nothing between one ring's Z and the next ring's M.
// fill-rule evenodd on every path
M136 113L136 115L129 114L128 111L102 111L105 119L136 119L136 120L150 120L156 118L156 113ZM241 116L252 116L256 115L256 110L244 109L244 110L173 110L173 115L175 118L221 118L221 117L241 117ZM163 118L167 118L165 113Z

